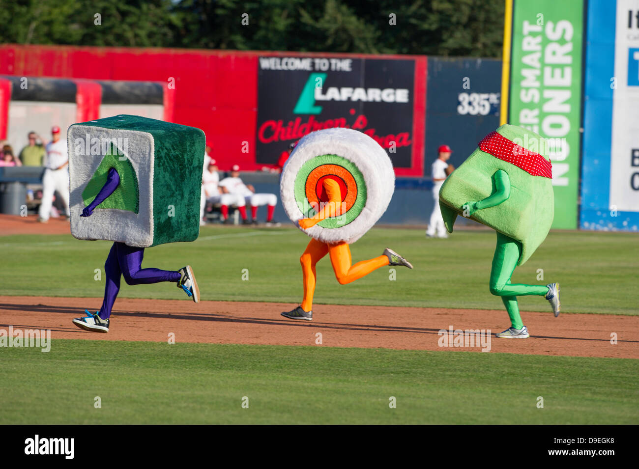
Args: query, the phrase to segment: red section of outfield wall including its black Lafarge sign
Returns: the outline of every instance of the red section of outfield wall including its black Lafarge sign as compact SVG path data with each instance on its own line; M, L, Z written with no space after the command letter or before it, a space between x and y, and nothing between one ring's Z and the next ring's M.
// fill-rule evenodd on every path
M260 63L260 57L281 59L266 65ZM284 70L286 57L305 60L295 61L295 70ZM173 121L204 130L222 170L234 163L243 170L259 170L268 161L277 161L295 136L312 126L346 125L369 133L385 146L399 163L397 175L421 176L426 68L426 56L0 46L0 75L166 83L174 93ZM389 70L390 78L384 78ZM309 88L311 78L319 78L321 91ZM258 116L258 88L262 93L259 101L269 103L260 114L265 122L282 121L282 128L287 128L282 138L258 142L258 117L262 117ZM265 101L271 93L282 98ZM356 99L353 94L357 93ZM313 103L313 97L321 101ZM274 110L277 105L286 109ZM266 115L270 110L273 115ZM385 126L392 132L384 131Z

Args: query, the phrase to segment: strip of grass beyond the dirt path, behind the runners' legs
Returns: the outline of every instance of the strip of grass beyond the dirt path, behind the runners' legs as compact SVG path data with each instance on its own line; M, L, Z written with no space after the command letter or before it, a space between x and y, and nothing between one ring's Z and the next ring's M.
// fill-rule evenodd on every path
M146 249L142 267L177 270L192 265L204 300L296 303L302 297L299 257L309 238L292 227L204 227L197 241ZM111 242L79 241L71 235L0 238L12 269L0 274L5 295L101 297L104 261ZM379 269L342 286L328 258L318 264L318 304L363 304L502 309L489 294L495 249L492 230L459 231L450 239L426 239L424 231L373 228L351 246L353 264L392 248L415 269ZM612 232L551 232L513 283L562 286L562 313L639 314L636 282L639 236ZM37 286L37 288L35 288ZM180 299L167 284L128 286L121 297ZM540 297L520 297L526 311L548 311ZM87 305L89 307L90 305ZM98 305L95 305L98 306Z

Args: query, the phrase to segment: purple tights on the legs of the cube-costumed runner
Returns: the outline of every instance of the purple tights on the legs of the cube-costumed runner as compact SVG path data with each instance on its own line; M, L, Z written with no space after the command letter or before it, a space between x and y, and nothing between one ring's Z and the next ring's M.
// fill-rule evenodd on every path
M104 301L100 308L99 316L107 319L111 316L111 308L116 301L119 292L120 276L124 276L128 285L140 283L178 282L180 272L161 271L160 269L142 269L142 257L144 248L127 246L123 242L114 242L104 264L104 273L107 283L104 287Z

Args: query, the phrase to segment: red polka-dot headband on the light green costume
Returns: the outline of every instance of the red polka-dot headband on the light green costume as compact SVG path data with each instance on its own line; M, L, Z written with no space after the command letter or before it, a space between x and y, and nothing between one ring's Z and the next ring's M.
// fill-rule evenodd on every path
M553 177L550 161L541 154L527 150L495 131L486 135L479 142L479 149L495 156L495 158L508 161L534 176L549 177L550 179Z

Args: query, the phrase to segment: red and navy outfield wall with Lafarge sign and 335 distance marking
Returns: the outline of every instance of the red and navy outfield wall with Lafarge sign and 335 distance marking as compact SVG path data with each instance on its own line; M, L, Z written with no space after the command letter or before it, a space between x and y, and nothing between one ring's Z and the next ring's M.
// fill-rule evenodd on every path
M308 131L348 126L387 149L397 176L429 177L440 130L448 130L445 143L459 163L485 129L497 127L500 71L498 60L426 56L0 46L0 74L166 84L173 121L204 130L222 170L261 170ZM491 112L484 115L480 94L488 89ZM451 131L461 123L460 93L463 125L472 132ZM435 119L426 119L427 107Z

